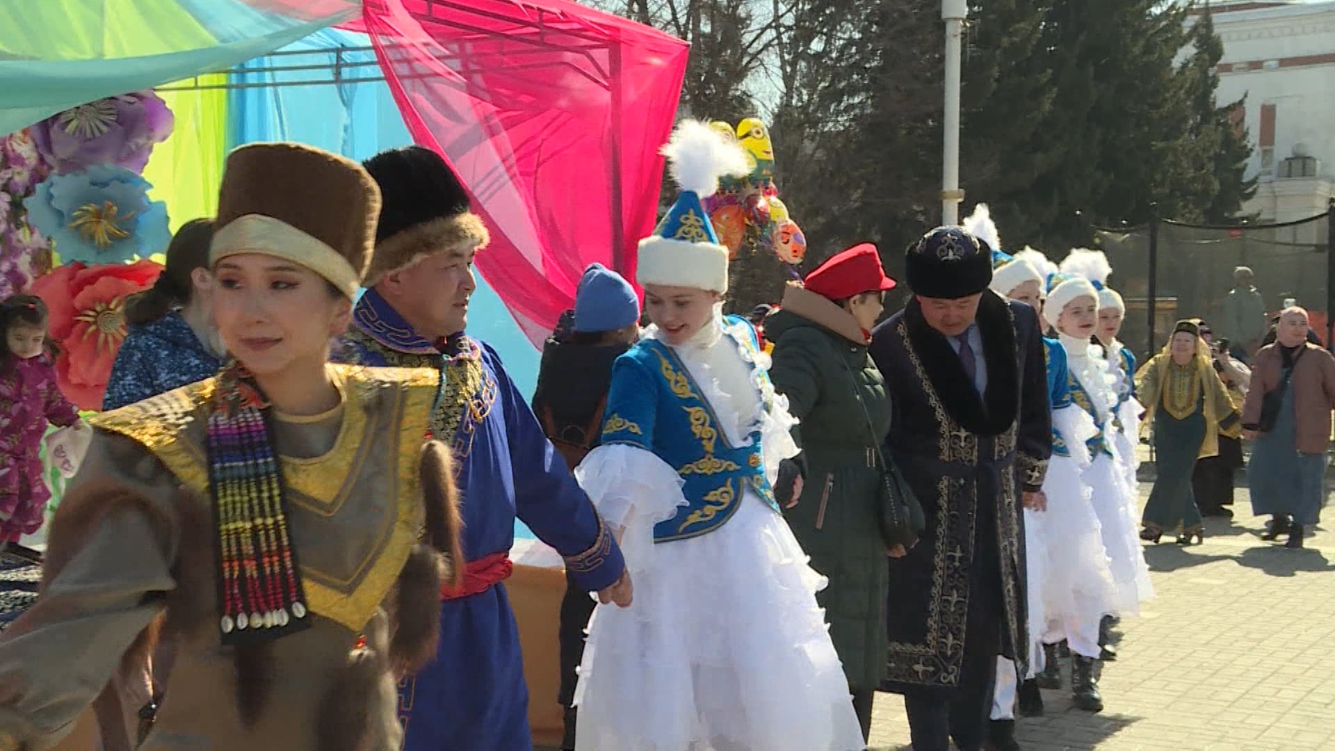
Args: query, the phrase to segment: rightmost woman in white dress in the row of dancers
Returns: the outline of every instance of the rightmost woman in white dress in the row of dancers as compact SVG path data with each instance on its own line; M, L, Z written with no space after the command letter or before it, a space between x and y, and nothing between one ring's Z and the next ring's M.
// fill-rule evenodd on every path
M1061 262L1061 273L1089 281L1097 291L1100 315L1107 307L1105 301L1121 302L1121 295L1116 295L1116 293L1112 293L1116 299L1112 295L1107 298L1103 295L1104 291L1111 291L1105 282L1112 273L1112 266L1108 265L1108 258L1101 251L1072 250ZM1101 318L1095 322L1096 337L1093 341L1100 341L1097 338L1099 321ZM1140 547L1140 508L1136 482L1135 452L1139 442L1139 416L1144 410L1131 394L1132 376L1128 373L1133 373L1133 370L1128 369L1135 367L1135 358L1127 362L1131 353L1116 342L1115 335L1111 338L1113 345L1109 345L1109 349L1116 346L1119 351L1124 353L1115 362L1109 362L1107 350L1099 346L1088 347L1088 351L1091 358L1096 358L1091 367L1093 370L1103 369L1107 373L1113 398L1104 433L1112 445L1120 481L1116 493L1111 488L1103 493L1095 490L1095 510L1103 524L1103 544L1112 559L1112 576L1117 581L1116 607L1108 611L1108 615L1116 619L1123 615L1139 615L1140 603L1153 597L1153 587L1149 583L1149 567L1145 565L1144 551ZM1087 338L1087 342L1089 341ZM1107 647L1109 624L1111 619L1104 619L1100 641L1104 644L1104 657L1115 659L1116 653L1111 647Z

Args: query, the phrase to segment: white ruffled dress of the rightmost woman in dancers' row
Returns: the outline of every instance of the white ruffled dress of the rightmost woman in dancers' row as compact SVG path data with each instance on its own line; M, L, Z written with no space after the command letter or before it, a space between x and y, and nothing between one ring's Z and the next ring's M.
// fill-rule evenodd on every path
M1067 351L1071 398L1089 414L1099 429L1089 442L1089 465L1084 469L1084 480L1091 490L1093 510L1099 514L1103 547L1112 561L1112 576L1117 584L1116 596L1105 603L1104 612L1137 615L1140 603L1153 596L1153 587L1149 584L1149 567L1145 565L1140 547L1139 493L1136 485L1131 484L1135 472L1131 462L1135 460L1128 462L1123 456L1124 450L1133 452L1135 446L1123 433L1120 408L1124 402L1116 392L1120 369L1111 369L1103 350L1088 339L1063 334L1061 345ZM1123 436L1120 444L1119 434ZM1084 655L1093 657L1097 652Z

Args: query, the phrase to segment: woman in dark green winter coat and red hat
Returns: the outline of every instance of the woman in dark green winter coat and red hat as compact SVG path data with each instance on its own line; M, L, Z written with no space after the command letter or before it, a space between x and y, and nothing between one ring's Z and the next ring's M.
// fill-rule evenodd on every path
M880 453L890 425L885 381L866 354L882 295L894 286L873 245L834 255L789 283L778 311L765 319L774 342L769 376L800 420L805 484L789 527L829 579L817 595L844 663L862 736L872 727L872 696L885 665L889 569L880 533Z

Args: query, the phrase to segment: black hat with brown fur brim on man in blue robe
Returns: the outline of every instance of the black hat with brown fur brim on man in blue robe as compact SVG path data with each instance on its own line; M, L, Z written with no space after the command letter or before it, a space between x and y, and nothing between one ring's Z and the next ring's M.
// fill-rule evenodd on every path
M469 192L435 151L392 148L363 164L384 196L366 286L429 255L469 254L487 246L487 227L473 212Z

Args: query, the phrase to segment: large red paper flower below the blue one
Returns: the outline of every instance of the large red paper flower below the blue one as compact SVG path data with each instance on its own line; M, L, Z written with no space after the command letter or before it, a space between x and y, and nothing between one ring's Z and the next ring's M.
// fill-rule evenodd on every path
M32 293L51 309L49 334L60 343L60 390L79 409L101 409L111 363L125 338L125 297L151 287L160 273L152 261L97 266L76 261L32 283Z

